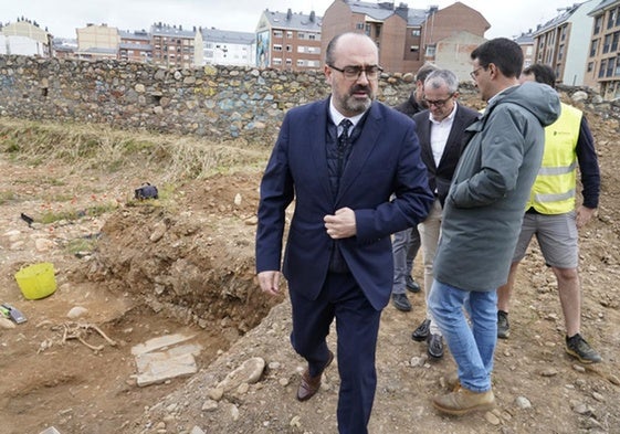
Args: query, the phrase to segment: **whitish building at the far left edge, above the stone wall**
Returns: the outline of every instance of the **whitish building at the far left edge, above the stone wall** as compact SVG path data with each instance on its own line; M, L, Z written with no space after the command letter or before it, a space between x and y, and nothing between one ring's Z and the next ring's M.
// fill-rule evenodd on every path
M36 21L25 19L0 24L0 54L52 55L53 36L39 27Z

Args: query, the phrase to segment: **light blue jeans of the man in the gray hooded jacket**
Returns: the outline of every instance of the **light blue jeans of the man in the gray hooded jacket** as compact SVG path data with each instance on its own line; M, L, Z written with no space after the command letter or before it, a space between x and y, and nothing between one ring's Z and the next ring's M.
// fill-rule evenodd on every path
M435 279L429 304L459 367L461 385L473 392L491 390L497 342L497 290L462 290Z

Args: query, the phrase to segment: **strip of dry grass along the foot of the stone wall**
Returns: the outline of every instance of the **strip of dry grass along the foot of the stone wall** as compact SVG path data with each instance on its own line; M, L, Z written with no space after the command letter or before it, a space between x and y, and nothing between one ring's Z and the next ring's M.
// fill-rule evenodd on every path
M262 169L267 149L243 139L125 131L106 125L55 124L0 118L0 152L22 163L54 161L75 171L114 173L132 168L162 170L168 182Z

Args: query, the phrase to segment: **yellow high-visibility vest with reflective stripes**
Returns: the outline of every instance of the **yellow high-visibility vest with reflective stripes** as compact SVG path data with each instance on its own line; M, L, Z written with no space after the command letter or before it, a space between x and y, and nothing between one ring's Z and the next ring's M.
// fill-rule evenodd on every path
M561 103L560 116L545 128L543 163L526 210L532 207L542 214L564 214L575 209L581 116L581 110Z

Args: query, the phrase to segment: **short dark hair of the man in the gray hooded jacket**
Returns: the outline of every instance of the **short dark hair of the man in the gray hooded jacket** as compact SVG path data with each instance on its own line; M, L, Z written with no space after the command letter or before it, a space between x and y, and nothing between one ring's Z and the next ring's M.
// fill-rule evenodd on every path
M523 51L521 46L507 38L495 38L479 45L471 54L472 61L477 59L480 66L486 68L493 63L506 77L518 78L523 68Z

